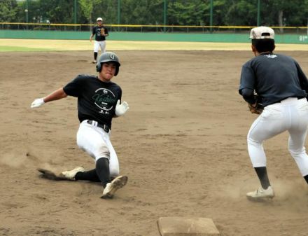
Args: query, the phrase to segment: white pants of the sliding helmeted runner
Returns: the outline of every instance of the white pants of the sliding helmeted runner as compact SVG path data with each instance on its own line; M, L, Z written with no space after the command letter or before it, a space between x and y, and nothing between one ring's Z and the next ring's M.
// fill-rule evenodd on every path
M101 127L89 124L87 120L83 120L77 132L77 145L92 156L95 162L99 158L108 158L110 176L116 177L120 172L119 162L116 151L110 141L110 133L111 131L107 133Z

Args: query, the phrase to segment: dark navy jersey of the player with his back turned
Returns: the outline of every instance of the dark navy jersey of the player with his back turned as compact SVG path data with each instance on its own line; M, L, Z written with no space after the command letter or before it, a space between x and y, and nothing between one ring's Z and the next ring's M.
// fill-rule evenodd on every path
M306 97L308 81L300 65L286 55L264 53L253 57L241 69L239 93L250 88L262 98L263 106L288 97Z

